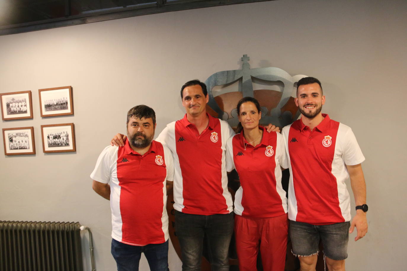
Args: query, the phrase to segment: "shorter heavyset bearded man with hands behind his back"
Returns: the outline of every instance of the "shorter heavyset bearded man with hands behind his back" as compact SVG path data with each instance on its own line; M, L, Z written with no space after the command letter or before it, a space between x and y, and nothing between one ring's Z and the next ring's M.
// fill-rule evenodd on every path
M106 147L90 175L94 191L110 199L112 255L118 271L138 270L142 252L152 271L168 270L166 181L172 185L173 157L153 141L155 126L152 108L131 108L129 140L122 147Z

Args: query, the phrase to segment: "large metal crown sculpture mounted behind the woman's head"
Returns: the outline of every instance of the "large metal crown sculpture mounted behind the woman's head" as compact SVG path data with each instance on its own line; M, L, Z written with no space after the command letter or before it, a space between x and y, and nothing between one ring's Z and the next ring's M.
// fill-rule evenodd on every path
M274 124L284 127L291 124L298 118L300 112L295 106L294 99L291 97L296 83L305 75L291 76L282 69L276 67L254 68L250 69L249 57L244 54L242 69L217 72L206 79L208 87L209 102L208 106L220 119L228 121L230 126L236 127L239 123L237 118L236 104L243 97L256 98L261 106L261 124ZM283 91L270 89L253 90L252 78L266 82L277 82L283 86ZM212 88L215 86L224 86L239 81L237 91L230 91L214 97ZM278 88L278 87L277 87ZM233 108L233 109L232 109Z

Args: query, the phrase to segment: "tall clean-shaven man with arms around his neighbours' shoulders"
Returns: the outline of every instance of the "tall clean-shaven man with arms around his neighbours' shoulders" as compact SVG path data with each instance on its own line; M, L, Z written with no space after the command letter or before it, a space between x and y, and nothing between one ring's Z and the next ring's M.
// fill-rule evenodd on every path
M186 82L181 99L184 118L168 124L157 141L168 146L176 162L173 193L182 270L201 269L204 236L212 270L229 270L234 221L225 150L234 131L227 121L206 112L209 96L203 82ZM275 126L267 126L267 132L272 129ZM122 135L117 134L111 144L123 145Z

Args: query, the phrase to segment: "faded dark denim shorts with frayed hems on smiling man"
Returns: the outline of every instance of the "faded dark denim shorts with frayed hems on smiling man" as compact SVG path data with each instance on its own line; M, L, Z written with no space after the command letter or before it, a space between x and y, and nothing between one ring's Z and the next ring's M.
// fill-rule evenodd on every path
M319 240L322 240L326 257L332 260L345 260L348 258L349 227L349 221L312 225L290 220L292 252L296 256L317 254Z

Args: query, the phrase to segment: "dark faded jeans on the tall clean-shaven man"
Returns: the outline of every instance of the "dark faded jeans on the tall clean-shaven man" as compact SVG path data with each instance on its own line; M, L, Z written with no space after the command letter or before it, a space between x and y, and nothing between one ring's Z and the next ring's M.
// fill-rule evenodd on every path
M201 270L205 235L212 271L229 270L229 245L233 224L233 213L190 215L175 210L175 229L181 246L182 270Z

